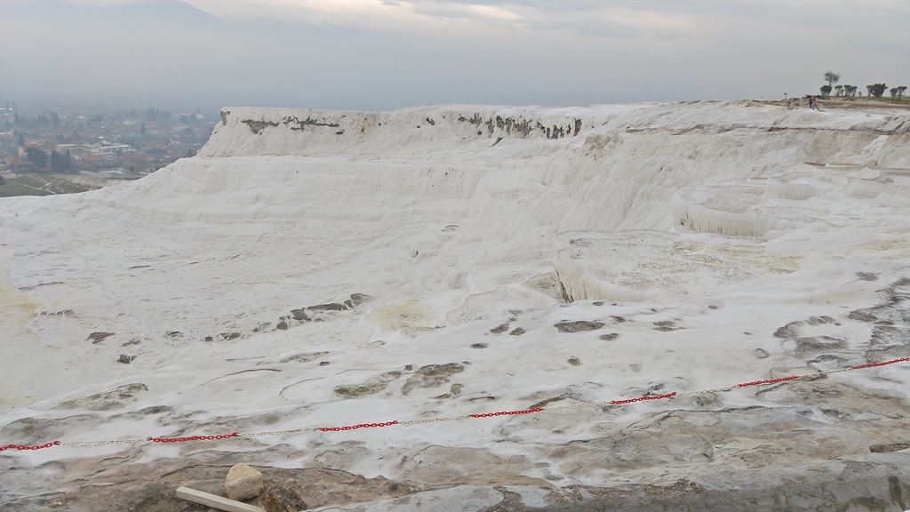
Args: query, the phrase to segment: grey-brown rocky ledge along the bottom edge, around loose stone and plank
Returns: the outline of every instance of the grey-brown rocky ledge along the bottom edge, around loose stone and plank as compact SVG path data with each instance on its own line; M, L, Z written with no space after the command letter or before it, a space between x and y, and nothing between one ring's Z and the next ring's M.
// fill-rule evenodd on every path
M824 464L794 466L784 472L757 469L709 477L693 474L691 479L668 476L662 485L534 486L521 476L503 476L495 486L470 481L428 486L383 476L366 478L327 467L257 468L267 480L294 488L310 509L326 511L904 511L910 507L910 451L906 445L898 452L890 450L900 446L871 447L888 451L833 457ZM48 480L60 487L6 503L3 510L207 511L209 507L177 498L177 487L226 496L224 481L230 466L257 458L256 453L200 452L153 464L124 465L116 459L50 464L40 468L41 472L55 474ZM5 479L12 479L7 484L22 484L23 476L13 472ZM733 482L738 485L730 487ZM258 498L248 503L258 505Z

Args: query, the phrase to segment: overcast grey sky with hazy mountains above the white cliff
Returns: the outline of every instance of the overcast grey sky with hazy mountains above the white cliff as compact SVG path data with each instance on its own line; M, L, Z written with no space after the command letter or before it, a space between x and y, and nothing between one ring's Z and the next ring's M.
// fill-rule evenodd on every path
M0 0L0 101L777 98L817 93L826 70L861 91L910 85L908 0L157 0L160 15L127 0L81 0L78 13L42 1Z

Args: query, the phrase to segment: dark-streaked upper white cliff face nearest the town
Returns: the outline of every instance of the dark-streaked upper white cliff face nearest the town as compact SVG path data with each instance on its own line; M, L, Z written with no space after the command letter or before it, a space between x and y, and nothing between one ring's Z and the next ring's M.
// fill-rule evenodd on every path
M201 154L336 154L352 148L384 152L415 143L571 138L583 128L581 114L569 108L470 106L392 112L224 108L221 123Z

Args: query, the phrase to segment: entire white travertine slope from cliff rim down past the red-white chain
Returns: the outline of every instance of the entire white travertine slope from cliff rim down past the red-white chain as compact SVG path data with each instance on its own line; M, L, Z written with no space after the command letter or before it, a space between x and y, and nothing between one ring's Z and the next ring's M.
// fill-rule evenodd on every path
M751 102L226 108L196 158L0 201L0 444L591 404L905 357L908 130L901 111ZM576 321L593 332L563 332ZM781 467L898 441L899 366L215 446L428 485L778 486ZM4 451L25 469L2 498L50 486L27 469L45 461L211 456L128 446Z

